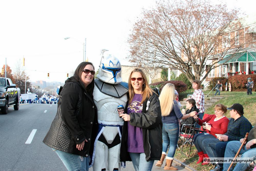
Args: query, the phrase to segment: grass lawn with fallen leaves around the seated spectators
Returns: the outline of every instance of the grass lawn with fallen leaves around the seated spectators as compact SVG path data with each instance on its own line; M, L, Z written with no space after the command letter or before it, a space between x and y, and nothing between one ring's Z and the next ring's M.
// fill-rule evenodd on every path
M209 97L206 97L206 95L209 93L209 91L204 91L205 94L205 100L210 100ZM214 92L215 93L215 92ZM210 94L212 96L212 92ZM246 92L226 92L223 91L220 93L221 96L225 97L219 100L218 103L221 103L227 107L231 107L232 104L234 103L240 103L243 105L244 108L244 116L251 122L252 126L255 126L256 124L256 93L253 92L252 95L247 95ZM218 96L216 96L218 97ZM214 106L208 108L205 110L205 113L207 114L214 114ZM229 110L225 114L226 117L230 118ZM195 170L210 170L213 168L213 165L201 165L201 164L196 164L198 160L198 155L197 155L197 150L196 147L193 145L191 148L191 154L190 157L185 156L182 154L181 151L181 146L182 146L182 141L178 141L178 146L180 147L179 149L176 149L175 152L175 158L180 160L181 162L184 162L185 164L189 165L190 167L194 168ZM183 153L186 153L188 155L189 153L189 144L185 145L183 148ZM250 170L250 169L247 169Z

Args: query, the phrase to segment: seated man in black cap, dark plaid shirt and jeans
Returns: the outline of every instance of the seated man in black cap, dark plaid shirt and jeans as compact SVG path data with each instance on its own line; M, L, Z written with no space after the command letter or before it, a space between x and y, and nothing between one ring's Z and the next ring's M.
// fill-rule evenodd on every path
M224 157L225 149L229 141L239 141L252 129L248 119L243 116L243 106L239 103L228 108L231 119L228 124L228 131L217 138L208 138L202 141L209 157ZM219 163L214 170L222 170L223 163Z

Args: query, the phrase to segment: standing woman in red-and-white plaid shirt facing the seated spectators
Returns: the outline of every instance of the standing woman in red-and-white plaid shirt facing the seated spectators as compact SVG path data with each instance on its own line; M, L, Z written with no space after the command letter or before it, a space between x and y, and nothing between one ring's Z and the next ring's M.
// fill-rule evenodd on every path
M199 118L203 119L205 112L205 95L201 90L201 82L199 80L194 80L192 83L192 87L195 90L191 98L196 101L196 107L198 108ZM196 124L196 128L200 128L200 125Z

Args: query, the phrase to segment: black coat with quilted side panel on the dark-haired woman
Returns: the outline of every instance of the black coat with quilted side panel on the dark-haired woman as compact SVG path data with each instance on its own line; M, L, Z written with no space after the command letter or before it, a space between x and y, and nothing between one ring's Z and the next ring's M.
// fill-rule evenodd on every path
M57 114L43 142L57 150L88 157L97 135L97 108L82 83L66 80L60 93ZM83 150L76 148L85 139Z

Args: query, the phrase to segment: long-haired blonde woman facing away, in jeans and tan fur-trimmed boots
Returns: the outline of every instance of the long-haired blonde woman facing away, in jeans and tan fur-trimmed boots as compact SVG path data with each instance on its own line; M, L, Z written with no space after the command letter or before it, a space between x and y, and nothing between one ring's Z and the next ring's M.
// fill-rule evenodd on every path
M159 96L163 122L163 151L161 160L156 163L156 166L162 166L168 146L170 145L168 155L166 156L166 166L164 167L164 170L178 170L177 168L172 166L173 157L179 139L178 119L186 119L188 117L196 115L196 111L193 111L186 115L183 115L180 112L174 92L174 85L168 83L163 87L162 92Z

